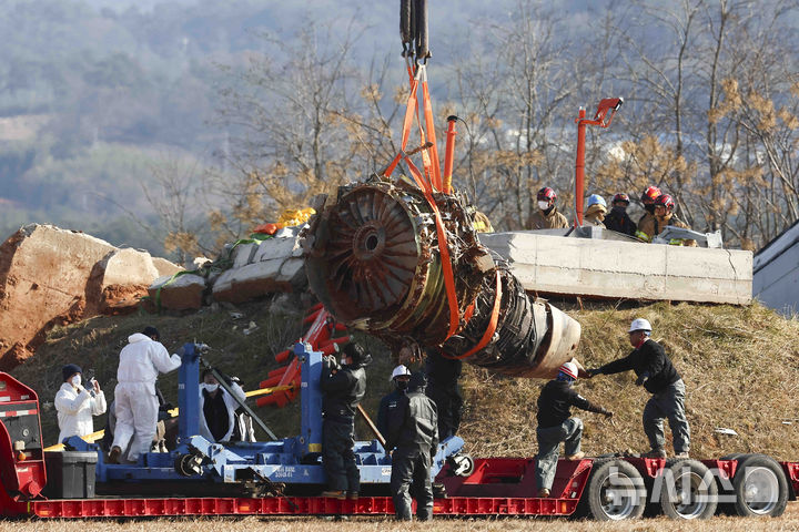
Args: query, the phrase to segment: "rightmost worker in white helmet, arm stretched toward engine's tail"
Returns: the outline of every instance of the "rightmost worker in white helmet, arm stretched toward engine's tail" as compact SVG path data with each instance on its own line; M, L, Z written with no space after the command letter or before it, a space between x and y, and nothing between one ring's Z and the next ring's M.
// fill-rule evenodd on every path
M605 366L588 370L594 375L613 375L633 370L638 379L637 386L644 386L653 397L644 407L644 432L649 438L651 451L647 458L666 458L664 418L668 418L677 458L688 458L690 448L690 428L685 415L685 382L666 356L663 346L653 340L651 325L644 318L633 320L629 341L635 349L627 357L614 360Z

